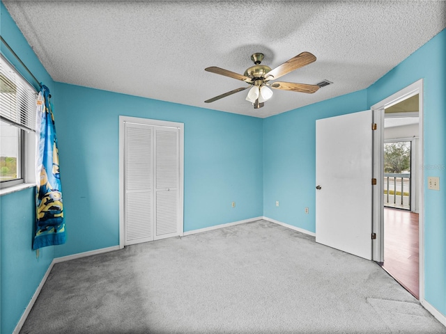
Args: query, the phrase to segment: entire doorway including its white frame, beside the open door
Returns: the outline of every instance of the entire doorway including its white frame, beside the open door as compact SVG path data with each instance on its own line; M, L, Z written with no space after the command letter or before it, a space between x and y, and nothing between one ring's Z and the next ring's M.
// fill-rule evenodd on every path
M420 301L424 299L422 92L420 79L372 106L380 129L374 138L374 175L380 182L374 189L373 258Z

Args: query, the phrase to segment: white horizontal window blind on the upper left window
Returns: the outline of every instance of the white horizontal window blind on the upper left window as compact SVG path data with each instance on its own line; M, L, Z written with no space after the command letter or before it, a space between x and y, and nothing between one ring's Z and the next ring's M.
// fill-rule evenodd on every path
M0 57L0 118L25 129L36 129L36 90Z

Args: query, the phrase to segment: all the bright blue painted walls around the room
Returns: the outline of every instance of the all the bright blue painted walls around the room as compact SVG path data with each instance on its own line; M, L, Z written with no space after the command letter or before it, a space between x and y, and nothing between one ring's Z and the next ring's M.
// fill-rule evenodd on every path
M185 231L264 215L314 232L315 120L369 109L420 78L425 177L446 180L445 31L367 90L261 120L54 83L3 3L0 11L1 35L54 96L68 230L66 244L43 248L36 258L34 190L0 197L1 333L13 331L54 257L118 244L119 115L184 122ZM3 45L1 51L32 81ZM446 315L446 198L440 188L424 189L424 275L426 301Z

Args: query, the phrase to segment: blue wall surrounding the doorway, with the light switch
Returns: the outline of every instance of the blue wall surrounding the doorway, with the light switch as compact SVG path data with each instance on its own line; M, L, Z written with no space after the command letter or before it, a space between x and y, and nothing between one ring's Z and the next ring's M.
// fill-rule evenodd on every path
M369 87L368 104L424 79L424 287L425 299L446 315L446 30ZM440 177L440 191L427 177Z

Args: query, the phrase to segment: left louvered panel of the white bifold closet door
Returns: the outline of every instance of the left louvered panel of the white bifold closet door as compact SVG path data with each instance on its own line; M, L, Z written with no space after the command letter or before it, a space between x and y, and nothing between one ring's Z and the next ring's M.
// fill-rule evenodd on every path
M125 245L153 240L153 128L125 124Z

